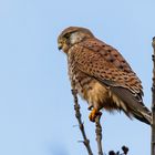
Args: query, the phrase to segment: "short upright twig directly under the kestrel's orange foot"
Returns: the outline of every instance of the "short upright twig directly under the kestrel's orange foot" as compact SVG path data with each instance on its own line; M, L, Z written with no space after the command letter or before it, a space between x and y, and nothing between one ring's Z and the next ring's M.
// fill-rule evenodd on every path
M97 115L95 118L95 133L96 133L96 142L97 142L97 151L99 151L99 155L103 155L103 149L102 149L102 126L100 124L100 118L101 115Z

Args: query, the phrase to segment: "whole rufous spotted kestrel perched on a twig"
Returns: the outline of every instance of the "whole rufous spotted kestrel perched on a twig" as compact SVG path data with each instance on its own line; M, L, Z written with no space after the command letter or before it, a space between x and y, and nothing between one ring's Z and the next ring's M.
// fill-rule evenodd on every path
M104 108L152 123L152 113L143 103L142 83L116 49L79 27L63 30L58 46L68 56L71 85L87 101L92 122Z

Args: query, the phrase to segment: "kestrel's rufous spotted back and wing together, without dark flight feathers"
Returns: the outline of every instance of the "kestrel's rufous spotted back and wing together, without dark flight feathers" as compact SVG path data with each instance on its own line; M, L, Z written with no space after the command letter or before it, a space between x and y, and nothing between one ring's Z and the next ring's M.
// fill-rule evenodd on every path
M97 39L86 40L79 46L82 52L79 52L81 59L78 59L78 63L86 68L85 72L87 70L87 73L107 85L121 86L130 90L134 95L143 95L140 79L117 50Z

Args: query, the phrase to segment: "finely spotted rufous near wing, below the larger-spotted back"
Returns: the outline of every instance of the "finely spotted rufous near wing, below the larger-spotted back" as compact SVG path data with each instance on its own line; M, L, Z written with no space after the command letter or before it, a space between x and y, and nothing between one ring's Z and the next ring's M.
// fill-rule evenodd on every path
M74 55L72 60L81 71L101 82L108 81L111 86L126 87L132 93L141 94L141 81L132 70L125 72L116 68L112 62L106 61L100 52L80 45L74 45L70 51Z

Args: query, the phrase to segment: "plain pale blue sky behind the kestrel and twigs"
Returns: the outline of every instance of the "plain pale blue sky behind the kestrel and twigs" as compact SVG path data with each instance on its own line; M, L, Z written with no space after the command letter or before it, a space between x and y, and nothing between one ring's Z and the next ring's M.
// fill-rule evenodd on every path
M86 155L56 38L70 25L86 27L130 62L152 103L154 0L0 0L0 154ZM87 104L81 112L96 154ZM124 114L103 111L103 148L130 147L148 155L151 127Z

